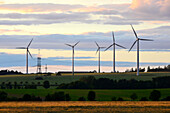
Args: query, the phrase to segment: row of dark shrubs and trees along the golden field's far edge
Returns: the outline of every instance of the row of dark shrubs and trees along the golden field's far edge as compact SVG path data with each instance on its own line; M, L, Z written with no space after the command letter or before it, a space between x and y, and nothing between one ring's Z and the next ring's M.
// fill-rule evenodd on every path
M161 93L158 90L153 90L149 98L148 97L141 97L138 99L136 93L132 93L130 95L131 101L170 101L170 96L165 98L161 98ZM45 98L41 98L39 96L24 94L21 98L17 97L9 97L8 94L4 91L0 91L0 101L71 101L70 95L67 93L65 94L63 91L54 92L53 94L47 94ZM86 101L85 97L79 97L77 101ZM87 101L97 101L96 100L96 93L94 91L89 91L87 95ZM122 97L112 97L111 101L125 101Z

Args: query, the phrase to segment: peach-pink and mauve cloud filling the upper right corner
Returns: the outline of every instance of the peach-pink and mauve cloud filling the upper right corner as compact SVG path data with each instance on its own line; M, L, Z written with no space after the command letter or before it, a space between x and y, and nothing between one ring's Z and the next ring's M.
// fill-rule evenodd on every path
M133 0L128 11L122 15L134 20L162 20L170 19L170 0Z

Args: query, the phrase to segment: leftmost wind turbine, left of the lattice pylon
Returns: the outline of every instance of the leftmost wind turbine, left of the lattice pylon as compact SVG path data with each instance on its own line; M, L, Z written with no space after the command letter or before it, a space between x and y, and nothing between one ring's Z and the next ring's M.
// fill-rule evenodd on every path
M30 41L30 43L28 44L27 47L17 47L17 49L26 49L26 74L28 74L28 54L31 56L31 58L33 58L29 51L29 47L30 47L32 41L33 41L33 39Z

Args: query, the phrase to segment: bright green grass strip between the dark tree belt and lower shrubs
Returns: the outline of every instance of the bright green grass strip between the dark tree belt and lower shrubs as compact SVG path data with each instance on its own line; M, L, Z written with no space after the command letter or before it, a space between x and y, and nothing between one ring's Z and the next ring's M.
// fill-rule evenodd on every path
M113 96L122 97L124 100L130 100L130 95L136 93L138 99L141 97L149 97L150 92L153 89L136 89L136 90L84 90L84 89L0 89L5 91L9 96L22 97L23 94L34 94L36 96L45 97L48 93L52 94L56 91L64 91L71 96L72 101L78 100L79 97L85 97L89 91L96 92L96 100L98 101L110 101ZM157 89L161 92L161 98L170 96L170 89Z

